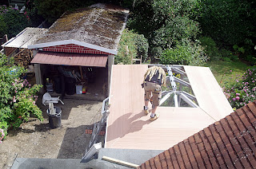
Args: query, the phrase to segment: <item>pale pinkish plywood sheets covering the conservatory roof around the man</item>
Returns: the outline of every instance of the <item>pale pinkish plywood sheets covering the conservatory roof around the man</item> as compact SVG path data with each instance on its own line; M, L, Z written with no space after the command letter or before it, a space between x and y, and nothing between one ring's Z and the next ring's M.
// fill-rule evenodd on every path
M186 72L198 106L160 106L160 117L151 122L142 111L140 85L148 67L113 65L106 148L166 150L233 112L209 68L170 65Z

